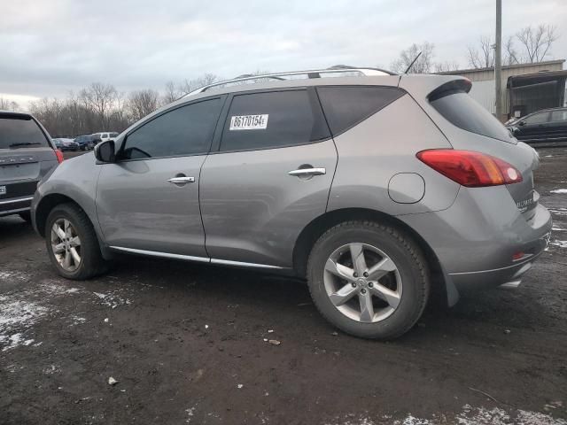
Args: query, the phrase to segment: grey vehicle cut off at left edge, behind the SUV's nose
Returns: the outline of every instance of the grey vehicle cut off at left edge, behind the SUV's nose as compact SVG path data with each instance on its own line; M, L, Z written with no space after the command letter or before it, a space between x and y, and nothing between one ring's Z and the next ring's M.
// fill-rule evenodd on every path
M62 161L34 117L0 111L0 217L19 214L29 221L37 183Z

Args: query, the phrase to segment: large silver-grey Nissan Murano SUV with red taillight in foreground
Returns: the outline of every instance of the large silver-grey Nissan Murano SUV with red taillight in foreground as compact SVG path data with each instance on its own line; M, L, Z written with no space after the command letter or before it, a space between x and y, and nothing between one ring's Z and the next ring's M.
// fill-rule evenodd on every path
M536 152L466 79L349 72L217 83L58 166L33 202L58 273L127 252L295 274L328 321L379 339L435 286L453 305L517 285L551 229Z

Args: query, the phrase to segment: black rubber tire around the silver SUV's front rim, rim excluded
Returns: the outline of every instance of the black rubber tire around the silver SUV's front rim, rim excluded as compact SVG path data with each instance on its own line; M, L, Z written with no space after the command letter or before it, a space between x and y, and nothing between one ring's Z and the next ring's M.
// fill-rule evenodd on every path
M66 271L58 263L51 246L51 228L57 220L66 219L73 225L77 236L81 239L81 262L73 272ZM58 274L66 279L83 281L103 274L108 269L108 263L103 259L98 244L97 234L86 213L74 204L61 204L53 208L47 217L45 227L45 244L50 256L51 264Z

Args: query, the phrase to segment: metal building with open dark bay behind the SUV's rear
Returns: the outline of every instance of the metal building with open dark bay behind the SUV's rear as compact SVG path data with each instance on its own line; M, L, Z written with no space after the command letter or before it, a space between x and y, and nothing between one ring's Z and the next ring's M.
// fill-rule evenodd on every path
M535 64L502 66L502 121L513 116L543 108L563 106L565 103L565 59L548 60ZM441 73L462 75L472 81L470 96L485 108L495 112L494 68L460 69Z

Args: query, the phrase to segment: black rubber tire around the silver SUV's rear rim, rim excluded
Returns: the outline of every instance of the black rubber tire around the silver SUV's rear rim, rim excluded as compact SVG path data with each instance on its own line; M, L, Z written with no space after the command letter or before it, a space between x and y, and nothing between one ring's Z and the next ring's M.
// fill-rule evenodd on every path
M377 322L347 317L330 301L323 274L333 251L347 243L368 243L383 251L398 268L403 291L393 313ZM307 282L315 305L334 326L353 336L388 340L406 333L419 320L430 292L430 274L419 246L397 228L373 221L347 221L327 230L307 262Z

